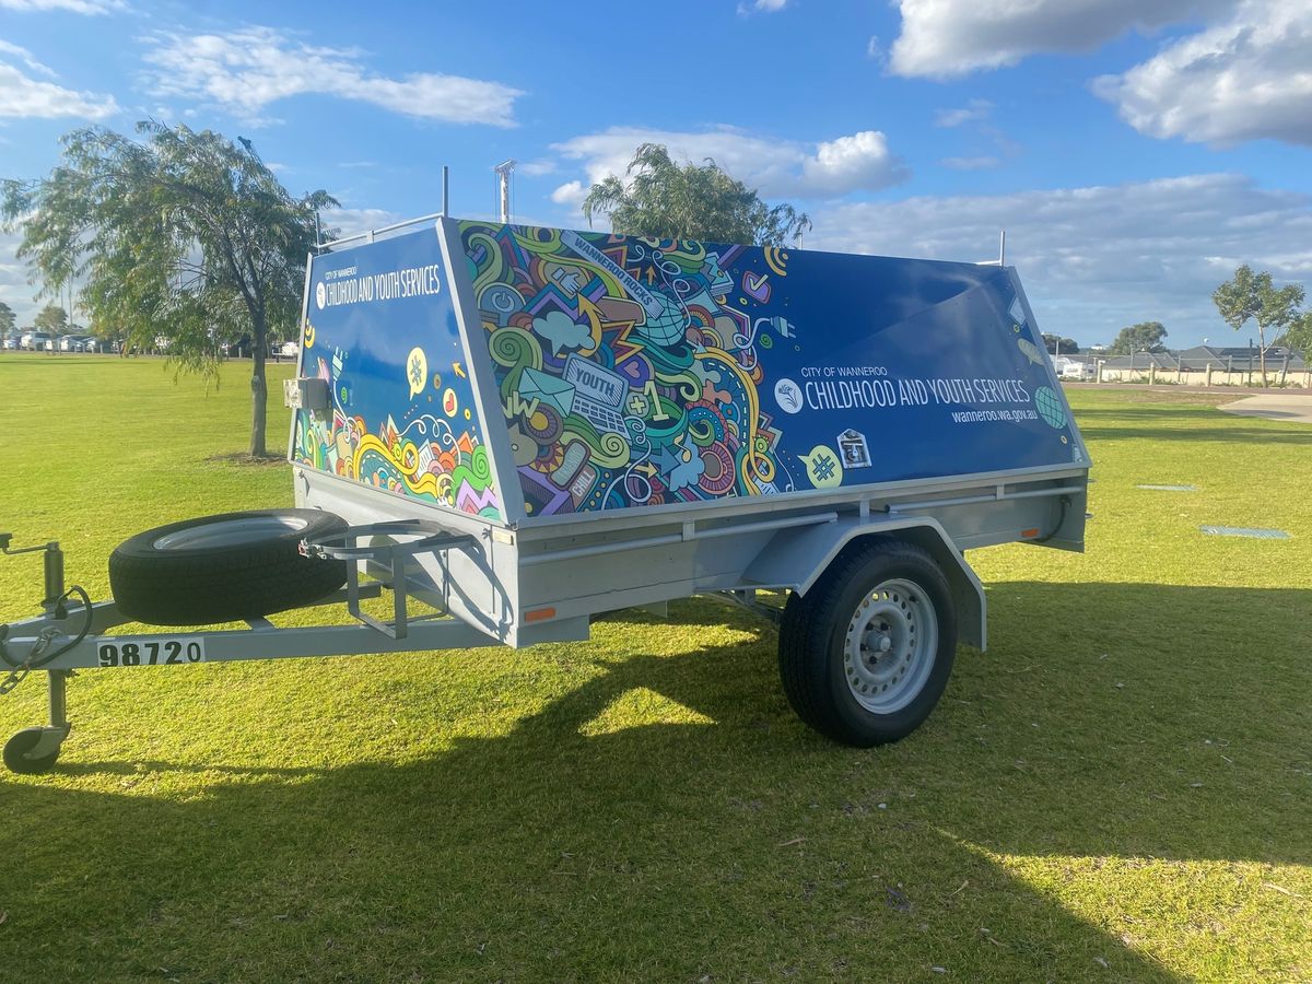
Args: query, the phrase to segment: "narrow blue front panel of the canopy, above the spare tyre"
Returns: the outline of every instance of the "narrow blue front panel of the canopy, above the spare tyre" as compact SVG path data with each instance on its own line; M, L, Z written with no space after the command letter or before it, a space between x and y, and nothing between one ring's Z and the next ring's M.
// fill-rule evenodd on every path
M500 520L436 230L314 257L302 373L331 413L298 411L293 459Z

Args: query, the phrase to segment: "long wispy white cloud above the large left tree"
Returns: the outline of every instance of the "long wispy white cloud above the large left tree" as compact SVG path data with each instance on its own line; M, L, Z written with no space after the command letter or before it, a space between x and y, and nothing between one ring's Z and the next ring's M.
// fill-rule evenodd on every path
M146 60L157 94L202 98L261 121L266 106L291 96L321 93L370 102L421 119L514 126L523 93L501 83L416 72L390 79L370 72L361 52L316 47L272 28L227 34L160 33Z

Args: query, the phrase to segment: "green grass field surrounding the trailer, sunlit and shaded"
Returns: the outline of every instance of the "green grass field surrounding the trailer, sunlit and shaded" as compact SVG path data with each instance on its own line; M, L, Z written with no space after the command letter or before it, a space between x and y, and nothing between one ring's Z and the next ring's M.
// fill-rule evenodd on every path
M972 554L992 648L888 748L807 731L774 630L705 600L521 652L88 672L55 773L0 779L0 979L1309 980L1312 426L1216 399L1073 395L1088 552ZM105 597L130 534L290 504L222 458L248 403L237 365L206 396L0 357L0 529ZM0 621L39 596L0 558Z

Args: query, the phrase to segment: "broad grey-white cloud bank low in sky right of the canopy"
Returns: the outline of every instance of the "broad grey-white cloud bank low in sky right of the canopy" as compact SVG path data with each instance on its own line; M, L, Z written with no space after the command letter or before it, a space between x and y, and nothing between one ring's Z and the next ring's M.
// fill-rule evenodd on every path
M1002 195L916 197L812 213L807 247L1019 268L1044 331L1110 341L1160 320L1189 345L1229 329L1211 293L1248 262L1312 286L1312 195L1241 174L1197 174Z

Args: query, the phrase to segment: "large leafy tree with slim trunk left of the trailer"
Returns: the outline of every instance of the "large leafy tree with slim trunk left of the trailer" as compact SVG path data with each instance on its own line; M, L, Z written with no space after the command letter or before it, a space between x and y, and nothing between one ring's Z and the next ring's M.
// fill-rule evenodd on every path
M0 218L46 294L72 286L97 325L139 348L167 340L180 371L213 379L220 346L249 335L251 455L264 457L269 338L293 335L315 214L245 138L136 125L140 139L85 127L45 178L0 182Z

